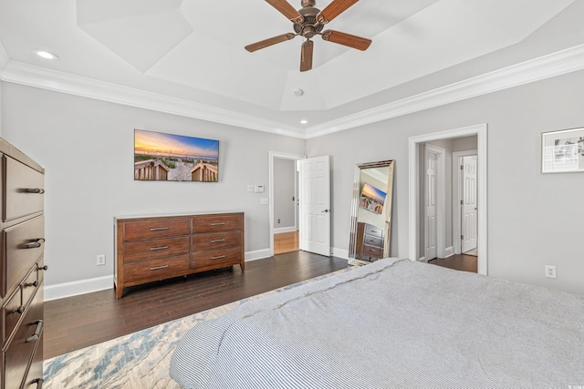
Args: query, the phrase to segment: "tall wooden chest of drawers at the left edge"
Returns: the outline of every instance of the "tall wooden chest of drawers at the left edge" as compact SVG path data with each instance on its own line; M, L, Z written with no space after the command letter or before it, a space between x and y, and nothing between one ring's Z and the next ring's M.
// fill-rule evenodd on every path
M0 387L43 384L45 169L0 139L2 368Z

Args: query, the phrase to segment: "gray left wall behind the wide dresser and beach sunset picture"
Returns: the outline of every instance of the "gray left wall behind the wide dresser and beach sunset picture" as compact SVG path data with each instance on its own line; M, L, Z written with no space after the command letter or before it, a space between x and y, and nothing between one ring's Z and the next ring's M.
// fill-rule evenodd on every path
M47 169L47 286L113 273L115 215L241 210L245 251L269 250L268 151L306 141L5 83L4 138ZM218 183L133 179L133 129L219 139ZM253 141L250 141L253 139ZM96 266L106 254L107 265Z

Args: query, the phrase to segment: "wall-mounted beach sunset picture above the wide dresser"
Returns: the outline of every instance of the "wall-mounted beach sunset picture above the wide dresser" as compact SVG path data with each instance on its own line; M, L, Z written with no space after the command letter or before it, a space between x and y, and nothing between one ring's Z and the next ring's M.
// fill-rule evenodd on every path
M219 181L219 140L134 129L134 180Z

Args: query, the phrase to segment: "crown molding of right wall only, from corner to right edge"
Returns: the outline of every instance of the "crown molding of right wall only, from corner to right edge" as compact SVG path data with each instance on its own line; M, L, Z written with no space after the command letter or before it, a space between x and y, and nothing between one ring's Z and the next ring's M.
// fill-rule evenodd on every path
M542 79L584 69L584 45L570 47L485 75L439 87L412 97L361 111L307 128L306 138L317 138L390 118L397 118L432 107L440 107L471 97L519 87Z

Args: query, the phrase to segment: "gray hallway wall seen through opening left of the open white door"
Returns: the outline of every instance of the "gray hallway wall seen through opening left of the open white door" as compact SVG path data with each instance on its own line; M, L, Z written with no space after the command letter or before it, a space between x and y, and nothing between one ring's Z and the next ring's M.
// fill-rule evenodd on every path
M274 229L296 227L296 160L274 159ZM278 223L278 220L280 222ZM276 230L277 232L277 230Z

